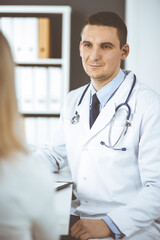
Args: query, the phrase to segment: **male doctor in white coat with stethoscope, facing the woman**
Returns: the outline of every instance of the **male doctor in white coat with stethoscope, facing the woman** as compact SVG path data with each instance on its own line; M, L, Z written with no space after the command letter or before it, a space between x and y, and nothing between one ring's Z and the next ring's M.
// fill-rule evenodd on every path
M69 93L53 144L38 151L53 171L71 170L69 240L160 239L160 97L120 68L126 38L115 13L88 17L80 56L91 82Z

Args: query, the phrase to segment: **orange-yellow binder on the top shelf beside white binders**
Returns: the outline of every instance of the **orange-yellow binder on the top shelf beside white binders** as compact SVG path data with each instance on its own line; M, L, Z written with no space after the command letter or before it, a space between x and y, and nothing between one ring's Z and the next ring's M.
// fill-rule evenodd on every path
M49 18L38 19L38 57L50 57L50 20Z

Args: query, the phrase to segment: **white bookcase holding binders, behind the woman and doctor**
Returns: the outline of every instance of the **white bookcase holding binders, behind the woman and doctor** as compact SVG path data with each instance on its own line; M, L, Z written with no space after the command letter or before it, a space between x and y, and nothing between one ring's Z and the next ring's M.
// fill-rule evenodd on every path
M7 18L8 32L7 24L4 24L5 19L2 18ZM22 18L22 21L18 18ZM39 37L39 35L34 35L34 33L39 33L39 18L48 18L50 21L49 39L53 45L49 41L50 54L46 55L50 58L38 58L37 49L41 45L39 41L33 44L35 43L33 37L35 36L34 40ZM32 21L33 24L31 24ZM29 25L31 27L28 27L28 24L31 24ZM19 57L16 55L17 51L13 51L15 87L27 144L35 146L45 144L52 135L53 129L57 128L64 99L69 92L71 7L3 5L0 7L0 25L6 38L8 37L11 49L13 47L13 50L19 51L20 49L21 51L28 39L31 46L27 42L28 48L25 48L25 51L29 47L33 49L32 45L37 47L36 54L31 56L25 55L24 51L24 54ZM22 30L19 31L20 35L16 34L17 26L20 26L19 29Z

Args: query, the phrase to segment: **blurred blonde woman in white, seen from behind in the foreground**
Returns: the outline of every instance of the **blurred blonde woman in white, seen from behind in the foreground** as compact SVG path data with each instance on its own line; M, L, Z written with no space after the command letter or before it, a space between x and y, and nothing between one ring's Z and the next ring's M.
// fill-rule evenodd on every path
M53 176L23 145L14 62L0 32L0 240L57 240Z

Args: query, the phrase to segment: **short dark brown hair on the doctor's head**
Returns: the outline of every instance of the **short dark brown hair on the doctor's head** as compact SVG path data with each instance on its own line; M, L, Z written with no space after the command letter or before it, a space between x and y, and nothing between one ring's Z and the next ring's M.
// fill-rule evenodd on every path
M87 21L82 27L81 35L86 25L114 27L117 29L117 34L120 41L120 48L122 48L126 44L127 27L124 21L114 12L98 12L89 15Z

